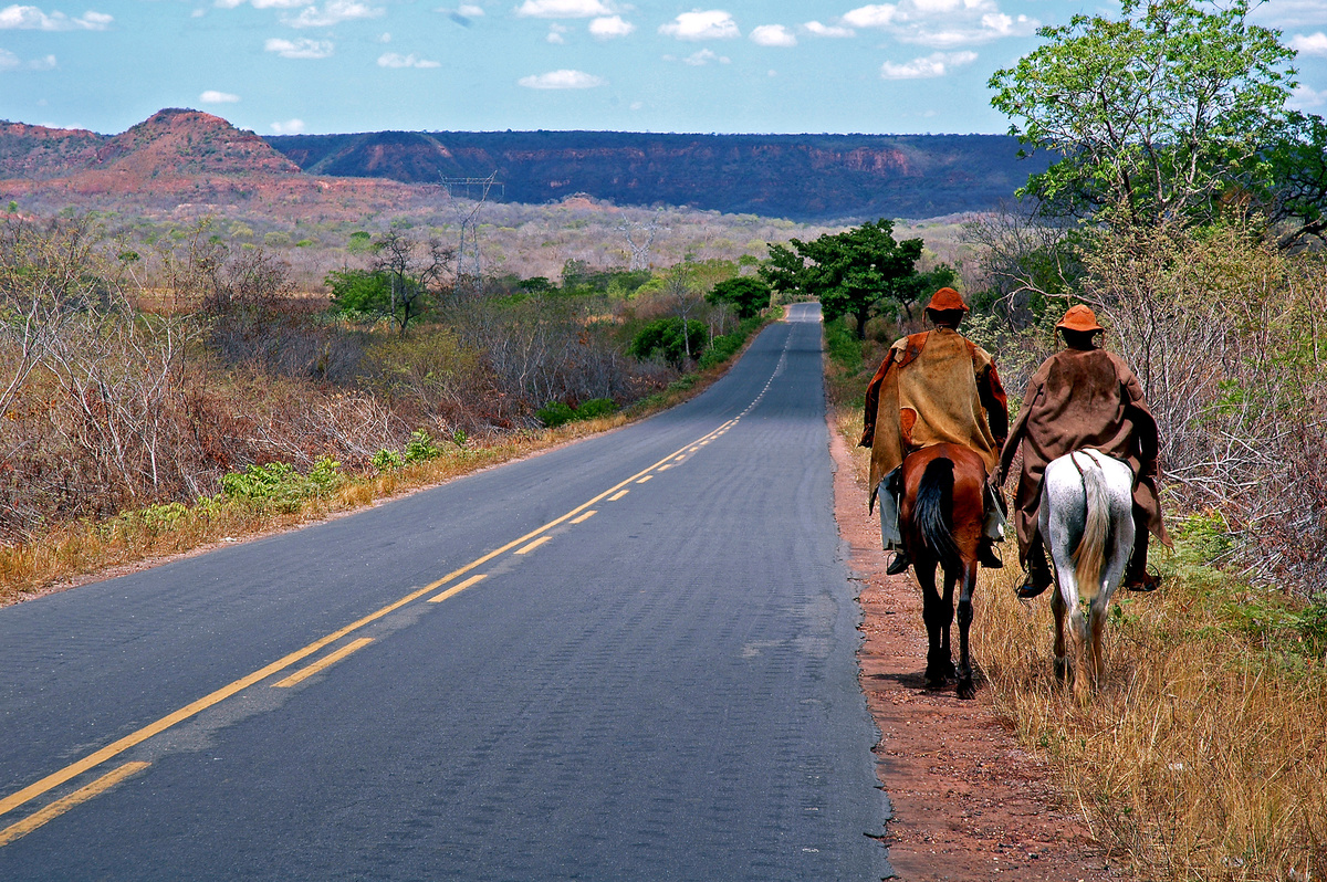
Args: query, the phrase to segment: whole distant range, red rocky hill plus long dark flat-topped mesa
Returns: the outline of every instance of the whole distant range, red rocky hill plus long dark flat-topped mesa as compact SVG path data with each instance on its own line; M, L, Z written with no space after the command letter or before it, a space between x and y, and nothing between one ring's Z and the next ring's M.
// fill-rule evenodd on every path
M260 138L220 117L167 109L118 135L0 121L0 196L50 210L256 200L354 214L368 203L435 199L439 184L496 172L503 187L490 198L515 203L584 194L617 206L690 206L799 221L921 219L1007 199L1046 164L1016 155L1016 142L1003 135L380 131Z

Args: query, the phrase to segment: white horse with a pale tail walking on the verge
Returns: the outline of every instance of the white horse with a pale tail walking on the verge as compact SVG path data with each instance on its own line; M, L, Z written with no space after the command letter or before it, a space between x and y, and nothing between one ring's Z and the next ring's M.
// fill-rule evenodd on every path
M1087 666L1101 683L1101 637L1111 596L1133 550L1133 470L1096 450L1060 456L1046 467L1039 513L1042 538L1055 566L1055 674L1068 671L1064 617L1074 633L1075 684ZM1085 658L1084 658L1085 654Z

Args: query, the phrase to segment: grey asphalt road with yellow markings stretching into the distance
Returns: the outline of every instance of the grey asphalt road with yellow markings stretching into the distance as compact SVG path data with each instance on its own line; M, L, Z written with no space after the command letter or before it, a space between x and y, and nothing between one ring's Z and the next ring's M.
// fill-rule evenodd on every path
M694 401L0 609L0 879L890 874L819 306Z

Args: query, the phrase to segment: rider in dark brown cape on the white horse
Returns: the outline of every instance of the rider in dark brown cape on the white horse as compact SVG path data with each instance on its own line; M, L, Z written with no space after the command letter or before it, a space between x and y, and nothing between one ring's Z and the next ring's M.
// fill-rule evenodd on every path
M1156 578L1147 572L1148 532L1170 544L1157 501L1156 419L1143 398L1139 378L1128 365L1093 342L1093 337L1105 329L1096 322L1091 309L1082 305L1071 308L1056 328L1064 337L1066 349L1042 362L1032 374L994 476L998 485L1003 484L1014 454L1022 450L1023 471L1014 499L1014 524L1027 581L1018 589L1018 596L1036 597L1054 580L1038 529L1046 467L1051 460L1084 447L1121 459L1133 470L1137 538L1124 582L1132 590L1152 590Z

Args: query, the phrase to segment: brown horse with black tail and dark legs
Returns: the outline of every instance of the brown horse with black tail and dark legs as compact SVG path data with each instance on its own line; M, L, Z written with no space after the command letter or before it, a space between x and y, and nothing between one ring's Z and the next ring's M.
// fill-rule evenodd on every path
M902 500L898 525L904 548L922 593L922 618L930 649L926 653L926 684L945 686L958 678L958 698L975 695L967 630L973 623L973 589L977 588L977 554L985 513L986 466L982 458L958 444L925 447L904 459ZM936 588L936 568L943 576L943 596ZM954 621L954 586L958 594L958 668L949 649Z

